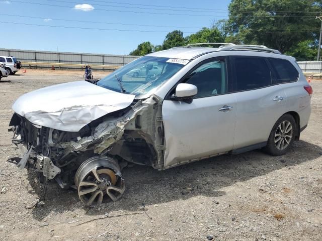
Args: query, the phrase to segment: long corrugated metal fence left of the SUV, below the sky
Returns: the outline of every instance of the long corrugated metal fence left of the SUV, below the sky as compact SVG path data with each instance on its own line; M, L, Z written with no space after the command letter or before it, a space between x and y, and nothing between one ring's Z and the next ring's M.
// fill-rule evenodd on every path
M69 53L51 51L33 51L19 49L1 49L0 56L14 56L19 61L67 63L67 64L99 64L123 66L139 58L140 56L108 55L89 53Z

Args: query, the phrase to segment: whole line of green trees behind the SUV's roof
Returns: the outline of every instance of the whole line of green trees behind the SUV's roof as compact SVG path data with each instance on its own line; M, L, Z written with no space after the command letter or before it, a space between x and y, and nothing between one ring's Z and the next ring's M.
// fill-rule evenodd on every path
M228 20L187 37L175 30L162 45L143 42L130 54L145 55L190 43L226 42L266 45L298 60L314 60L320 29L314 16L320 16L321 9L320 0L231 0Z

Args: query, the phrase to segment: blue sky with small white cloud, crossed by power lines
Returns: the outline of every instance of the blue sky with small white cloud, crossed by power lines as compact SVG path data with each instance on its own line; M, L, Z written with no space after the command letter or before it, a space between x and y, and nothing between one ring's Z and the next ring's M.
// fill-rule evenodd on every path
M229 2L230 1L228 0L0 0L0 23L2 23L2 27L6 28L9 32L7 37L2 36L0 47L9 49L48 51L57 51L58 47L58 50L61 52L129 54L130 51L135 49L137 45L143 41L150 41L152 44L161 44L165 39L166 34L173 30L180 29L184 32L185 36L189 35L189 32L198 31L196 28L175 28L169 26L197 28L210 27L213 21L227 18L227 7ZM43 5L34 5L31 3L39 3ZM76 5L77 9L74 8ZM171 6L179 7L180 9L155 6ZM183 7L186 9L183 9ZM119 11L149 12L154 14L128 13ZM15 16L5 16L3 14ZM37 17L38 19L16 16ZM88 22L83 23L59 21L57 19L137 25L158 25L168 27L143 27ZM17 25L11 23L70 26L90 29L53 28ZM92 30L92 28L160 31L161 33Z

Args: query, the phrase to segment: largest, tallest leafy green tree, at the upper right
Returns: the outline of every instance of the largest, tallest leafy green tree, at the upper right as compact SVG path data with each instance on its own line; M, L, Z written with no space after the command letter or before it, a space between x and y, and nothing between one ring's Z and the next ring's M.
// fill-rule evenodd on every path
M232 0L229 4L229 25L233 35L246 44L260 44L282 53L299 42L315 41L321 12L314 0ZM310 16L310 17L305 17Z

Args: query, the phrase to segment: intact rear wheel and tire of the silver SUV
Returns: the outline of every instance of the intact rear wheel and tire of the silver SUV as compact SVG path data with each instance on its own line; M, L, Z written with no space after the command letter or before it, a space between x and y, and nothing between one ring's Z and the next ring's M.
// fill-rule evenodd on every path
M297 133L296 123L291 114L282 115L275 123L267 146L263 149L272 156L281 156L291 148Z

